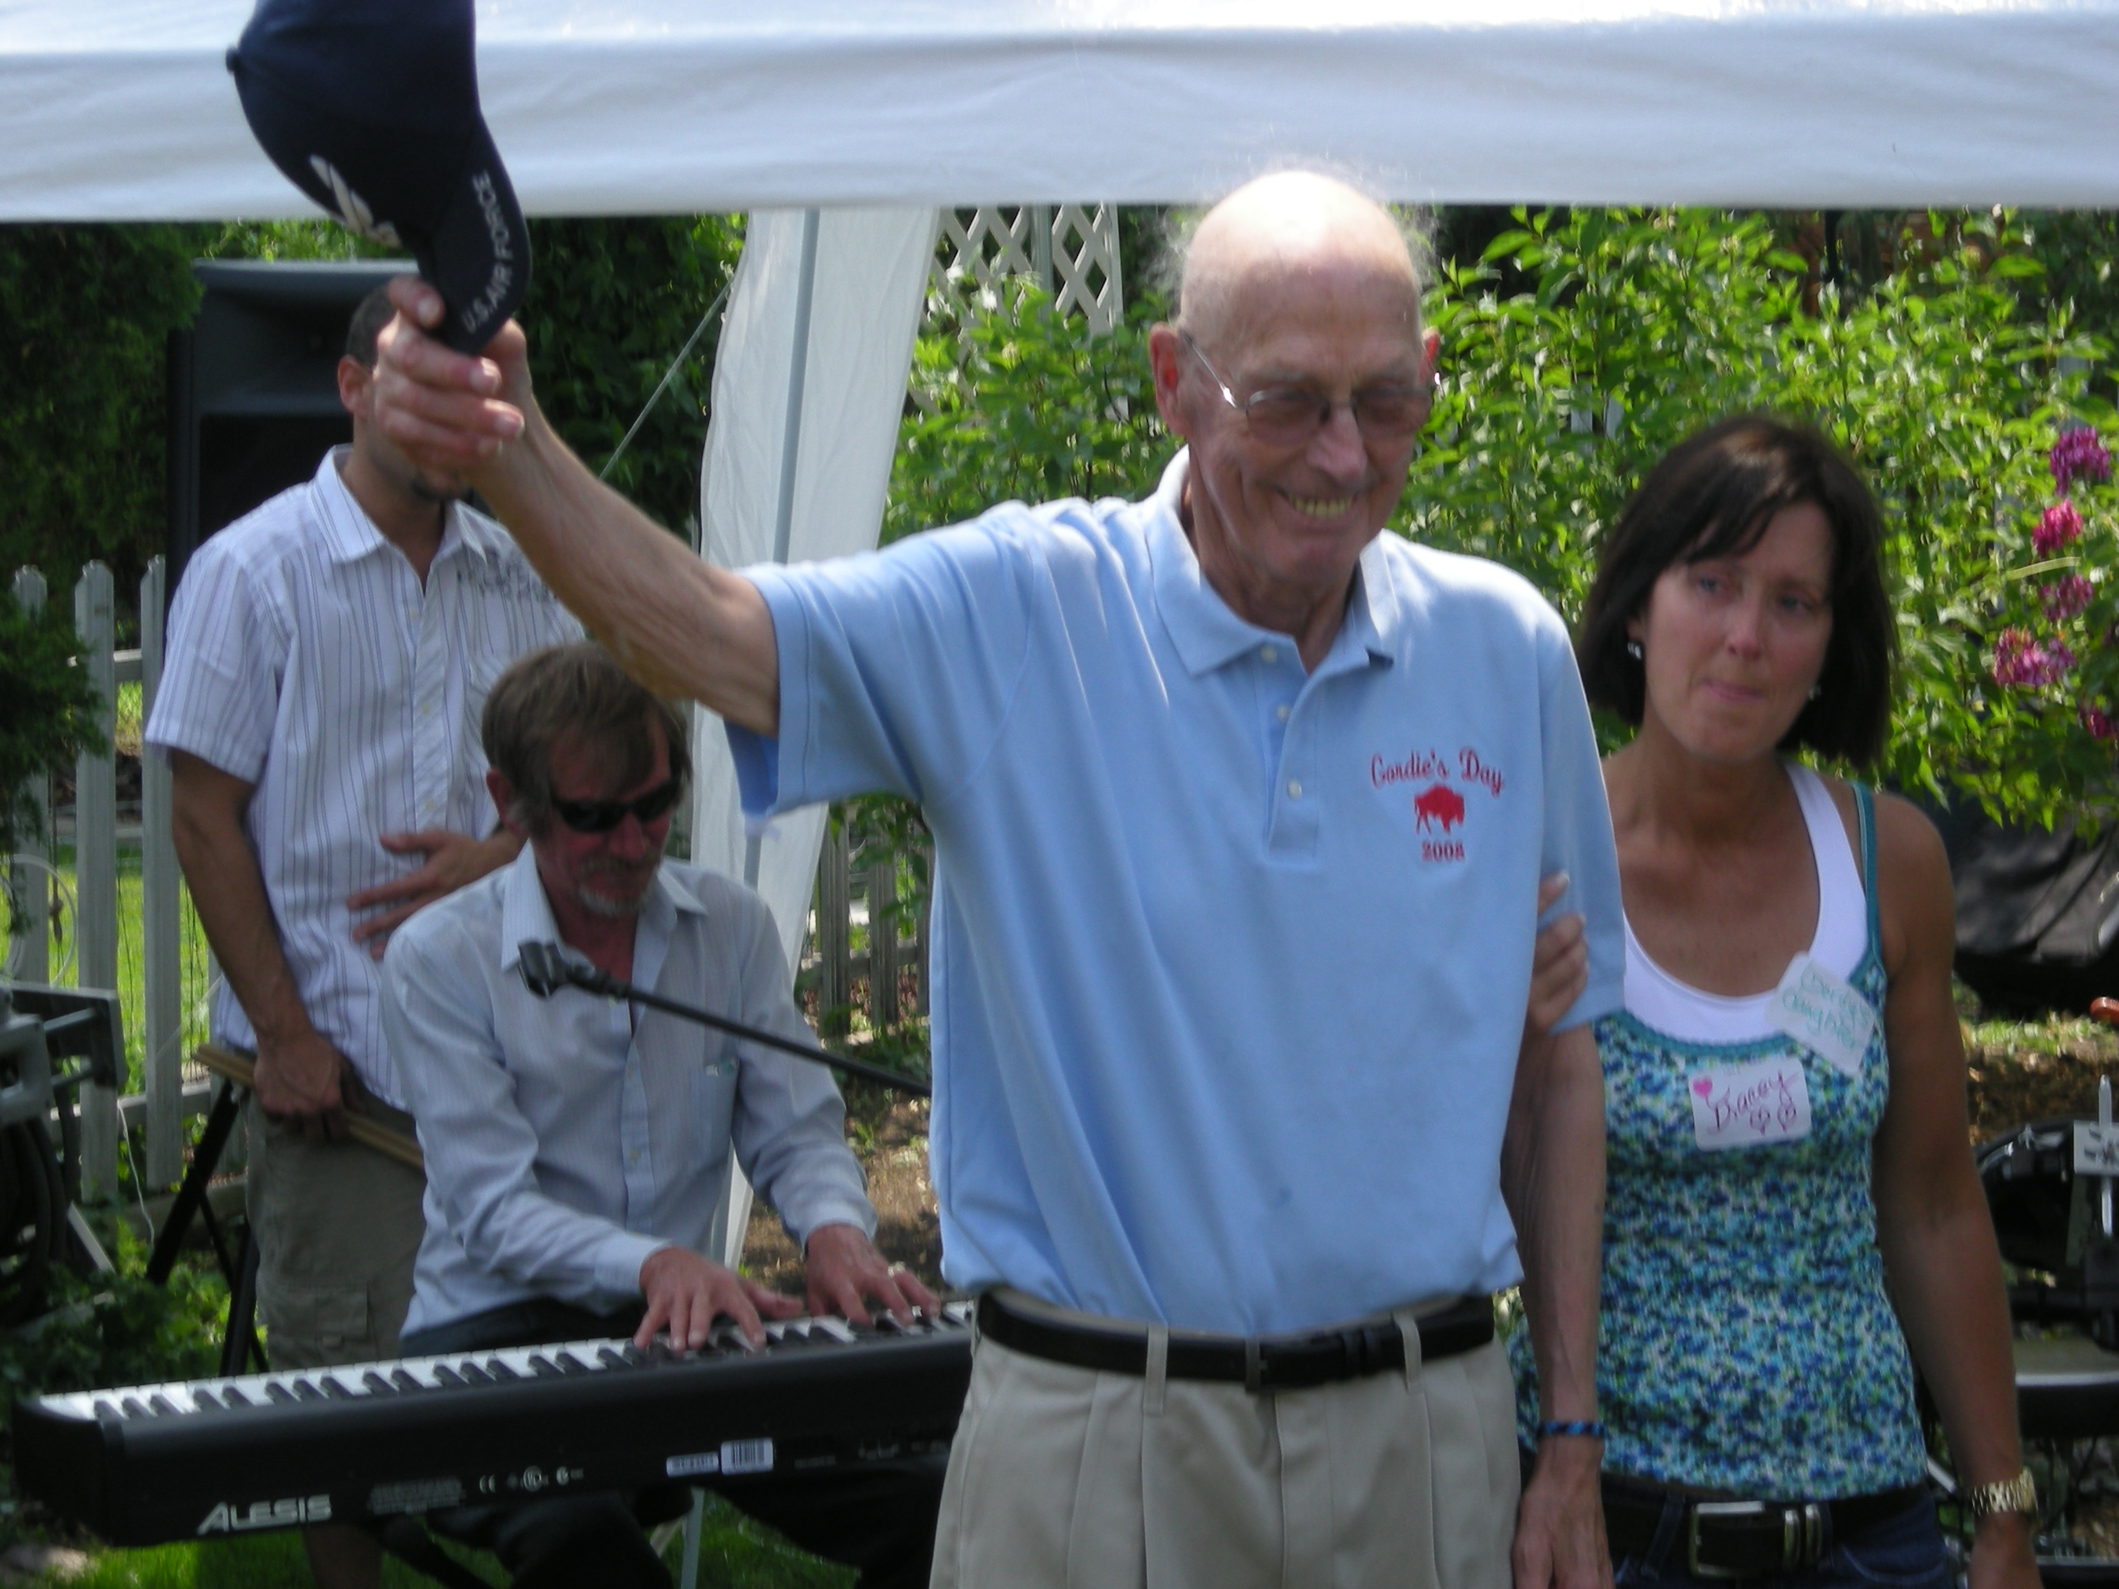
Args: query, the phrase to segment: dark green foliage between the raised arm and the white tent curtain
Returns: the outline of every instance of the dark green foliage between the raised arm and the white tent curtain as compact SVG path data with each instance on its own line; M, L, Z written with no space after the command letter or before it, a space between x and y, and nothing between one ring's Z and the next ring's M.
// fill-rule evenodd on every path
M530 222L521 322L547 417L602 470L699 316L735 271L742 229L729 216ZM718 324L693 345L610 485L691 538Z

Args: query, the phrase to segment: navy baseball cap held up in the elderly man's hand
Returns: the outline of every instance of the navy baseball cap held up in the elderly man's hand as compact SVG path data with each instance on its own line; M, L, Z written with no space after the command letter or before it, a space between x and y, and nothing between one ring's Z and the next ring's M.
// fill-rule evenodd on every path
M259 0L229 72L259 144L354 231L409 248L477 352L523 301L530 231L500 165L473 0Z

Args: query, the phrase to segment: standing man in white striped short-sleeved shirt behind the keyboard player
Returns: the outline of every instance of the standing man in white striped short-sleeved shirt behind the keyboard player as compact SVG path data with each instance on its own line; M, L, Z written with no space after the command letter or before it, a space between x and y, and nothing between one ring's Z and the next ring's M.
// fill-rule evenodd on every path
M343 1142L409 1133L381 1023L381 945L506 864L479 712L523 653L581 638L464 483L373 424L377 290L339 360L352 447L191 559L146 742L172 758L176 847L222 985L214 1038L256 1053L248 1201L273 1367L396 1356L424 1180ZM373 1540L309 1530L320 1585L377 1583Z

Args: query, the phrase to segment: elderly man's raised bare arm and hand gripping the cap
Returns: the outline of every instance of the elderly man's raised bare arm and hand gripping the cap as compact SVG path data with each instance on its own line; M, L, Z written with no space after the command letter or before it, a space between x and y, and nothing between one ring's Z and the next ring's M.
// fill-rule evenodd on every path
M598 481L545 424L513 320L483 358L426 335L441 294L415 275L377 337L375 417L415 462L462 470L536 572L625 669L754 733L780 729L773 621L750 581L695 557Z

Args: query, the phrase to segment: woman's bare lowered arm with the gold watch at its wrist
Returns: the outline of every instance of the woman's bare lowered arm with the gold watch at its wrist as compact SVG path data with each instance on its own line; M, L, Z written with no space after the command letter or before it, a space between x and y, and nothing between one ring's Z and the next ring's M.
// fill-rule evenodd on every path
M1890 1104L1875 1140L1875 1237L1892 1307L1949 1436L1960 1485L2024 1468L2009 1303L1964 1121L1964 1045L1949 998L1956 900L1943 841L1901 799L1877 799L1877 894L1890 996ZM2034 1519L1992 1513L1973 1536L1973 1589L2032 1589Z

